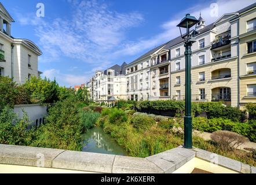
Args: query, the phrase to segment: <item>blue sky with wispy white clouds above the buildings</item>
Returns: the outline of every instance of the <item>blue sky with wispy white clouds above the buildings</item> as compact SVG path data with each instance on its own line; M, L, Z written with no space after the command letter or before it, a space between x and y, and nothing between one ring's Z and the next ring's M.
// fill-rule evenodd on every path
M254 2L1 0L15 20L12 36L30 39L42 50L38 64L42 77L55 77L66 87L86 83L95 71L128 64L179 36L176 25L186 13L199 18L201 12L208 25ZM42 4L44 11L36 7Z

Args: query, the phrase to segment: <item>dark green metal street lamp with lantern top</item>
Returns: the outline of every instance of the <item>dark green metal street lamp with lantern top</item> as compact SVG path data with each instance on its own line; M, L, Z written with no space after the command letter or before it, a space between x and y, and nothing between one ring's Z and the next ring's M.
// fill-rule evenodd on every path
M181 33L181 38L185 43L185 118L184 118L184 147L186 149L192 148L192 117L191 117L191 46L195 39L195 30L189 30L194 25L198 24L199 20L190 14L181 20L177 27L186 28L186 34Z

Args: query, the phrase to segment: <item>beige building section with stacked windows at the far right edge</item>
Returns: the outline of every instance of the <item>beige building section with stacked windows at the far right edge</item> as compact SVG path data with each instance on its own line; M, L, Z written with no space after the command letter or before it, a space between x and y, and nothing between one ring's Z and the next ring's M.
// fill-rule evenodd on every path
M239 24L240 106L256 103L256 7L239 12L233 22Z

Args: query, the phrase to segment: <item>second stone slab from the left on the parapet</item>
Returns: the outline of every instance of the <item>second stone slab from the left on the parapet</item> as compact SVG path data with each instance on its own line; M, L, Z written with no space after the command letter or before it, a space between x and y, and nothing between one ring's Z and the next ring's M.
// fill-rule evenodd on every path
M111 173L114 155L82 151L64 151L53 162L53 168L73 169L87 172Z

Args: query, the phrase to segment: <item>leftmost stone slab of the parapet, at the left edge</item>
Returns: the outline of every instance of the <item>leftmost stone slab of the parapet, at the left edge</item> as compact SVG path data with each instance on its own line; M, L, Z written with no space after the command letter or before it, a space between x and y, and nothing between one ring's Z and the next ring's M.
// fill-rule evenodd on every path
M0 164L50 168L52 160L65 150L0 145Z

